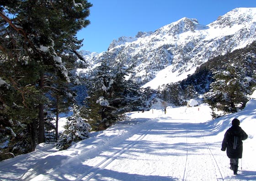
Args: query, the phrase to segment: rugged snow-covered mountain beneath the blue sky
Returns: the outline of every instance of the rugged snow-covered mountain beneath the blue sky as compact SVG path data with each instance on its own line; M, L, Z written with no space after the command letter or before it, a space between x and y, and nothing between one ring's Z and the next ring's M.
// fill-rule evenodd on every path
M91 70L99 61L133 65L130 78L144 87L183 80L209 59L240 49L256 40L256 8L236 8L210 23L182 18L155 32L113 40L106 52L86 56ZM86 72L86 71L85 71Z

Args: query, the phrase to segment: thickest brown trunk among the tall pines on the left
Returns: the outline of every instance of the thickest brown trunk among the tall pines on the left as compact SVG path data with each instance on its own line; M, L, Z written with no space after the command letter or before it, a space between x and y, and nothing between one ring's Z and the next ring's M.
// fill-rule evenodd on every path
M40 80L39 80L39 87L42 92L43 92L43 81L44 81L44 75L43 75L43 72L41 72ZM39 115L38 115L38 117L39 117L38 144L39 144L39 143L44 143L44 115L43 115L44 105L43 105L43 103L41 103L41 102L39 103L38 109L39 109Z

